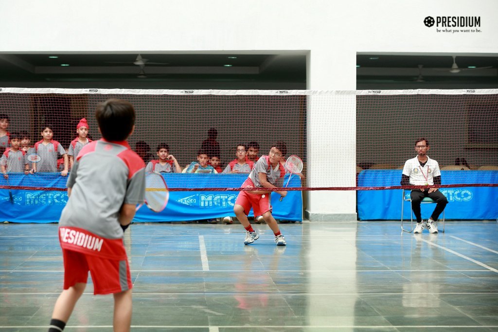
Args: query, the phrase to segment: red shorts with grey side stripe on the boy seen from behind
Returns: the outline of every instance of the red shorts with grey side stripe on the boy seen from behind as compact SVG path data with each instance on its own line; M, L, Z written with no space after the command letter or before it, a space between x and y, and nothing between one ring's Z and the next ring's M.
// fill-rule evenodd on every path
M94 294L114 294L132 288L128 260L103 258L62 248L64 289L76 283L87 283L92 275Z

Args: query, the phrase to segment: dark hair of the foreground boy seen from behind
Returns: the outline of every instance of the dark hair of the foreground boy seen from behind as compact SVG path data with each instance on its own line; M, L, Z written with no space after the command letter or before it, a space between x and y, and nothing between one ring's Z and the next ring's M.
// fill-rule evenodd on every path
M120 99L109 99L97 106L95 117L102 137L108 141L125 140L135 124L133 105Z

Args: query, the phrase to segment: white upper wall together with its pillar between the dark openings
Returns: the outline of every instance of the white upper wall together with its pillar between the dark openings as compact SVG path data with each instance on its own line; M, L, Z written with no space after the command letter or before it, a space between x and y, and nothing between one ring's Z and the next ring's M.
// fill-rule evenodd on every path
M0 52L309 50L314 90L354 90L356 52L498 52L496 0L0 0L0 8ZM428 15L481 16L482 32L436 33L422 23ZM341 125L356 130L354 121ZM353 149L336 129L326 137ZM354 202L354 192L313 192L308 210L354 219Z

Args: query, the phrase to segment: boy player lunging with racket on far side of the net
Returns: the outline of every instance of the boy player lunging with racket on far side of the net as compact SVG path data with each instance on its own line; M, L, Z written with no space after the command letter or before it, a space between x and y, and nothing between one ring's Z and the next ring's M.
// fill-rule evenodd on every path
M242 185L242 188L276 188L278 182L279 187L282 186L280 179L285 175L285 169L280 164L283 155L287 153L287 146L284 142L278 141L271 146L267 156L262 156L254 165L254 168L249 173L249 177ZM276 194L286 196L287 191L277 191ZM246 228L246 238L244 244L250 244L259 238L259 235L254 231L247 215L250 209L254 211L255 216L263 216L264 221L275 234L275 243L277 245L286 245L285 237L281 234L276 220L271 215L270 205L271 191L241 191L234 206L234 212L237 219Z

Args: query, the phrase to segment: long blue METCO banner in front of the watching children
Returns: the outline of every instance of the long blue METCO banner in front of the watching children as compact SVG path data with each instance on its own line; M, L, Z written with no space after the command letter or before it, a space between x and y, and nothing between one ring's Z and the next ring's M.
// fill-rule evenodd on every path
M162 173L168 187L172 188L240 188L247 174L170 174ZM285 176L287 183L289 175ZM24 175L10 173L8 184L0 176L0 186L65 188L67 177L59 173ZM289 187L301 187L298 176L292 176ZM11 190L13 203L7 189L0 190L0 221L57 222L67 202L67 192L59 190ZM271 194L273 217L280 220L302 220L302 195L288 191L279 202L280 195ZM168 205L161 213L140 208L133 222L190 221L235 216L233 209L238 191L174 191L170 192ZM252 211L249 214L252 216Z

